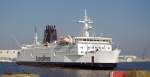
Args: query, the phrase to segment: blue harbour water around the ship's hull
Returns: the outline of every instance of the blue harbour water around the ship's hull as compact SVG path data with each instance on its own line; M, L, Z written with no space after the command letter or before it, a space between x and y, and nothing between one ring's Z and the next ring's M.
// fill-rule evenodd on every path
M148 70L150 62L119 63L114 70L75 69L60 67L36 67L17 65L16 63L0 63L0 75L6 73L33 73L40 77L109 77L115 70Z

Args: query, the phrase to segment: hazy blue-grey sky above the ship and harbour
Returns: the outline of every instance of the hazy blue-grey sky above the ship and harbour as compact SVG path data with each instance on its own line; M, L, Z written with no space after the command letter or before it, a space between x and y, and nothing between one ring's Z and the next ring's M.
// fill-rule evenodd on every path
M58 35L80 35L84 9L96 36L112 37L121 54L150 55L150 0L0 0L0 49L32 43L34 26L39 40L45 25L55 24Z

